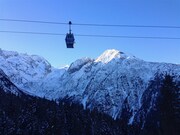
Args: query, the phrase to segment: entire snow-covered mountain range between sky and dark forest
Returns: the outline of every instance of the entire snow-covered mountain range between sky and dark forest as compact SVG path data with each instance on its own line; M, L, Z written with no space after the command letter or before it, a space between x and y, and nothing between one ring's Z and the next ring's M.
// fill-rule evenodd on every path
M114 49L62 69L53 68L39 56L0 50L0 68L26 92L48 99L66 98L114 119L121 117L126 102L131 112L129 123L141 109L144 93L157 74L174 74L180 81L180 65L146 62Z

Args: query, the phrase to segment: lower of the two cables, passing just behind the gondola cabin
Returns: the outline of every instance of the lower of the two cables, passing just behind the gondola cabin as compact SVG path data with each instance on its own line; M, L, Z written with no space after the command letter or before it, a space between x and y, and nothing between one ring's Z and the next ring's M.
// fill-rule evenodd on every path
M61 33L27 32L27 31L0 31L0 33L51 35L51 36L65 36L66 35L66 34L61 34ZM81 36L81 37L101 37L101 38L136 38L136 39L171 39L171 40L180 40L180 37L144 37L144 36L86 35L86 34L75 34L75 36Z

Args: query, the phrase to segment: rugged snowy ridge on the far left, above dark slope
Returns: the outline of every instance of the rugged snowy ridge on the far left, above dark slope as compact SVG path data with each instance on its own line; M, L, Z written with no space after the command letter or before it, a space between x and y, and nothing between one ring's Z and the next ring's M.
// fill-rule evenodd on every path
M24 88L27 82L44 78L52 70L51 65L42 57L1 49L0 68L20 88Z

